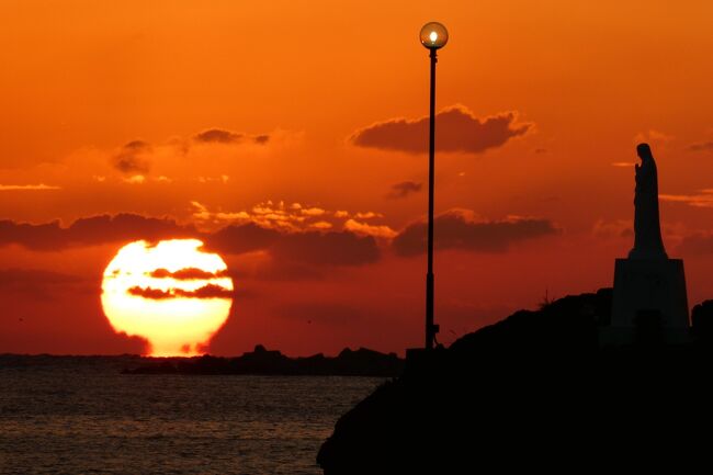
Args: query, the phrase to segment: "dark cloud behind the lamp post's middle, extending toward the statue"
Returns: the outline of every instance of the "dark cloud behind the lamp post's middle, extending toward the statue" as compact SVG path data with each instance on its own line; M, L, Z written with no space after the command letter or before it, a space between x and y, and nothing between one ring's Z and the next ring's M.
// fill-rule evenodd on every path
M434 245L438 249L473 252L502 252L511 245L527 239L557 234L547 219L513 217L505 220L477 220L466 210L451 210L435 217ZM419 222L407 226L392 244L398 256L426 252L427 225Z

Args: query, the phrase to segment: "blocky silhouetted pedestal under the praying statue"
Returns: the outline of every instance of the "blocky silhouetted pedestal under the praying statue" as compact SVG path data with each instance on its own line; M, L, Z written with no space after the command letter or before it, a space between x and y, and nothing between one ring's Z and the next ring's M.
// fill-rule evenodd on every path
M627 342L646 318L655 317L670 342L688 338L688 297L681 259L616 259L611 338ZM614 341L612 341L614 342Z

